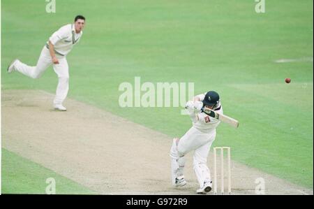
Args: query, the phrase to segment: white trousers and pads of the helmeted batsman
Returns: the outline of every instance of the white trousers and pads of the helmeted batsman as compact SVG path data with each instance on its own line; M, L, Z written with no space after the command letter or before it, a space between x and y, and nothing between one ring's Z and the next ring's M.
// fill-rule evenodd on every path
M216 129L204 133L195 129L195 127L191 127L179 140L174 138L170 150L173 185L175 184L175 178L184 175L184 155L192 150L195 150L193 169L200 187L203 187L205 181L211 181L211 174L207 167L207 157L215 137Z

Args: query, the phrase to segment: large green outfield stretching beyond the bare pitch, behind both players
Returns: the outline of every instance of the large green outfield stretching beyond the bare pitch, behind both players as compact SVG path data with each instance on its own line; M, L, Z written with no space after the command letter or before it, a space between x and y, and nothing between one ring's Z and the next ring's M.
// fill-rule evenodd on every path
M181 108L120 108L121 82L140 76L142 83L194 82L195 94L214 89L224 113L240 121L239 129L221 124L214 146L313 189L313 61L275 62L313 60L313 1L267 1L266 13L255 13L255 1L244 0L67 0L51 14L45 1L3 0L1 88L54 92L52 68L31 80L6 74L6 66L15 57L36 64L47 38L79 13L87 25L68 55L70 98L182 136L190 119Z

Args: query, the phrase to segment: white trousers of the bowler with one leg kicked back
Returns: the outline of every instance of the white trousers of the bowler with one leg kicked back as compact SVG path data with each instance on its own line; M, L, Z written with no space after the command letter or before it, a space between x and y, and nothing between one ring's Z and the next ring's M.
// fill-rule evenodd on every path
M54 104L61 104L68 94L68 62L65 56L56 55L59 64L53 64L49 50L44 46L41 50L36 66L28 66L17 60L15 70L29 76L30 78L40 78L43 72L52 65L54 72L57 73L59 82L57 86L56 96L54 97Z

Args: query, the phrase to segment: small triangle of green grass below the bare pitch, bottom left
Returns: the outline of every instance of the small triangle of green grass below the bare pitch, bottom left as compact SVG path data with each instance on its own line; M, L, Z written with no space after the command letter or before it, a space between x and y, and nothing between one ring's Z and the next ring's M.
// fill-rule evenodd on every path
M64 178L13 152L5 149L1 149L1 152L1 192L3 194L46 194L46 187L50 185L49 178L54 178L55 194L95 194L90 189L78 185L77 182ZM50 187L47 191L51 191Z

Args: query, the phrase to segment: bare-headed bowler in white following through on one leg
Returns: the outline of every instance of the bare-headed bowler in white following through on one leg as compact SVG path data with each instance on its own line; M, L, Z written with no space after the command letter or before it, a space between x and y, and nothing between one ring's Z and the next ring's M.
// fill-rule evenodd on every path
M40 78L43 72L52 65L59 78L56 96L53 101L55 110L66 111L66 108L62 105L68 94L69 73L66 55L72 50L73 45L80 41L84 24L85 17L77 15L73 24L66 24L55 31L43 50L41 50L36 66L28 66L18 59L13 60L8 66L8 73L19 71L30 78Z

